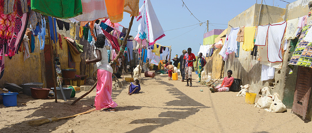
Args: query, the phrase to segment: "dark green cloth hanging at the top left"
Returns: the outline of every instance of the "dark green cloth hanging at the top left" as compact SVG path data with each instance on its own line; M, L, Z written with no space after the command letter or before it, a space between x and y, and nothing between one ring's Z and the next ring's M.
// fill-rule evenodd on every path
M31 10L46 16L69 19L82 14L81 0L31 0Z

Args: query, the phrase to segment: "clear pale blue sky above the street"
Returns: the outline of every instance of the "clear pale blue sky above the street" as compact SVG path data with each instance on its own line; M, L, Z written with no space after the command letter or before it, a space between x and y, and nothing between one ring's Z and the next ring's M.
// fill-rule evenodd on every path
M144 0L140 0L139 7ZM183 0L189 10L183 5L182 0L151 0L156 16L165 32L165 37L156 42L163 46L172 46L171 58L176 54L180 56L182 50L192 48L192 53L197 56L200 45L203 44L204 33L213 29L226 29L229 20L250 8L261 0ZM293 2L296 0L284 0ZM286 2L280 0L263 0L263 4L286 8ZM130 14L124 12L124 17L119 24L129 27ZM203 22L201 25L199 23ZM137 35L139 21L134 20L130 35ZM190 26L193 25L193 26ZM189 27L186 27L189 26ZM186 28L182 28L186 27ZM179 29L177 29L179 28ZM176 30L173 30L176 29ZM145 30L148 33L148 30Z

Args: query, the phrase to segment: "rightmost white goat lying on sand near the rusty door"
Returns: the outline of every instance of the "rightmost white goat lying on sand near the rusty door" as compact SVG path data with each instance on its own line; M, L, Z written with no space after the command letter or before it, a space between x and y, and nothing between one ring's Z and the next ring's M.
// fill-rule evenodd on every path
M279 99L278 93L273 93L272 99L274 101L271 104L270 109L264 109L264 110L266 110L267 112L275 112L275 113L286 111L286 106Z

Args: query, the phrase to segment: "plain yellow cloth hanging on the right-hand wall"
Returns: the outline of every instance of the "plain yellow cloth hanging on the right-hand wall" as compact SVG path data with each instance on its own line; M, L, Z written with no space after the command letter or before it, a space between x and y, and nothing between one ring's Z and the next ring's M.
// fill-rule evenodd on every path
M254 47L254 33L255 33L255 26L252 27L245 27L244 29L244 43L243 43L243 50L251 51Z

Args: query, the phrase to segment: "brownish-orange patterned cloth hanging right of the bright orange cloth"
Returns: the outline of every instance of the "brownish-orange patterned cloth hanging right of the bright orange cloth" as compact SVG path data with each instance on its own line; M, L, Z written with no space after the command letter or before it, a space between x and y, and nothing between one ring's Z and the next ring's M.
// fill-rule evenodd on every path
M125 0L123 11L131 16L138 16L138 2L140 0Z

